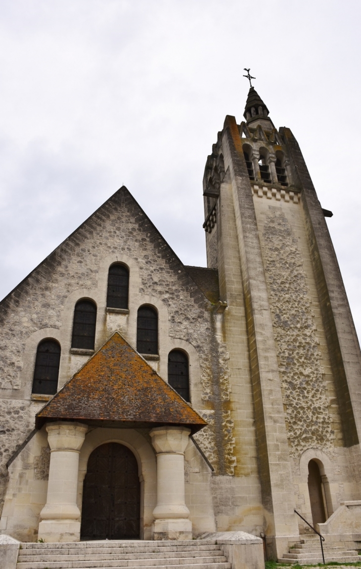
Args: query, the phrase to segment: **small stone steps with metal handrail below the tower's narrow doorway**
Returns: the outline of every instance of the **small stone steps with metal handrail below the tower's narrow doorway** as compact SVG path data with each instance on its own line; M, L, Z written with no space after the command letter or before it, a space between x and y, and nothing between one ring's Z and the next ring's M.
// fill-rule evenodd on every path
M355 563L361 561L361 556L355 549L347 549L344 542L323 542L323 554L325 562L336 561L338 563ZM323 563L321 543L319 537L304 535L296 546L290 547L289 553L285 553L278 563L298 563L300 565Z

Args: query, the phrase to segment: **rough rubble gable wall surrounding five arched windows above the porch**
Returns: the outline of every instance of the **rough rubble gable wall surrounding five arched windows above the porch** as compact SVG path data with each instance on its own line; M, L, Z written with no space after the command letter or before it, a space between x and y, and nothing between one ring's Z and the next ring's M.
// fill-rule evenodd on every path
M106 312L108 269L114 261L124 262L130 269L129 314ZM0 370L2 503L7 486L6 462L34 428L35 414L46 399L31 396L39 341L53 337L61 345L59 387L90 357L71 353L73 308L80 298L90 298L97 304L96 349L116 329L136 347L137 309L143 303L153 304L159 314L159 360L149 363L167 380L169 351L184 349L190 359L192 406L203 415L214 406L210 395L217 382L223 381L227 389L227 360L214 340L210 303L129 192L118 191L0 307L4 356ZM217 437L212 424L198 435L198 440L204 441L204 452L215 467L222 468L224 457L218 456L217 450L221 431ZM40 455L42 452L39 450ZM26 453L27 447L16 459L16 476L28 469L24 465Z

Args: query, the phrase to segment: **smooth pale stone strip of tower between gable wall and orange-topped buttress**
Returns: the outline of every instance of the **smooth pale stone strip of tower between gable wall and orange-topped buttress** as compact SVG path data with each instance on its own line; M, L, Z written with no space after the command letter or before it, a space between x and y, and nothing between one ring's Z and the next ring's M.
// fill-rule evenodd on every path
M220 186L218 200L218 270L220 298L227 300L224 311L223 337L227 346L229 365L229 413L234 423L234 477L212 479L215 516L220 531L252 527L258 534L263 526L263 509L255 415L249 369L247 327L238 251L235 212L229 171Z

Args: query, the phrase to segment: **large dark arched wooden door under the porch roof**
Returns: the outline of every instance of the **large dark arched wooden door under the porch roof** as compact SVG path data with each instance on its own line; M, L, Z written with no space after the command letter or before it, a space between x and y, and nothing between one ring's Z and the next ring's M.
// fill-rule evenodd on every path
M139 539L138 463L119 443L106 443L89 456L83 486L81 539Z

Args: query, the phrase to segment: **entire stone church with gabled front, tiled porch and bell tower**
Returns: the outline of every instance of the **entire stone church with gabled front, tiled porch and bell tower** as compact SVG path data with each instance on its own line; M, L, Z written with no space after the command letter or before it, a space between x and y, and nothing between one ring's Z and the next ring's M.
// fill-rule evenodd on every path
M254 88L244 119L207 158L207 267L122 186L0 303L2 534L245 531L277 559L308 522L360 549L361 354L331 213Z

